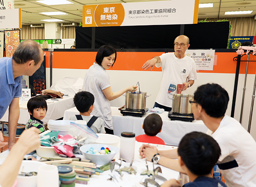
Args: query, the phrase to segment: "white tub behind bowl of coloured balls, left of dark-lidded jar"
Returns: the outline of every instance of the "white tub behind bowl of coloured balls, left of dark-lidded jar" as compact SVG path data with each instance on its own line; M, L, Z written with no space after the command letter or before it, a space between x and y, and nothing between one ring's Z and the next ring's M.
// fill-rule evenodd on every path
M108 144L114 147L120 147L120 137L112 134L96 133L99 137L95 144Z

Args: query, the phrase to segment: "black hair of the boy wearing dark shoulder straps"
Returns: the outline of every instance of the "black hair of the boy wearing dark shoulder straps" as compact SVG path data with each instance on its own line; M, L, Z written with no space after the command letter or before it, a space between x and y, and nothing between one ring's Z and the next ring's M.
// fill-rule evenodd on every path
M74 103L76 106L76 109L81 112L88 112L90 107L94 103L94 96L90 92L87 91L81 91L76 93L74 96Z

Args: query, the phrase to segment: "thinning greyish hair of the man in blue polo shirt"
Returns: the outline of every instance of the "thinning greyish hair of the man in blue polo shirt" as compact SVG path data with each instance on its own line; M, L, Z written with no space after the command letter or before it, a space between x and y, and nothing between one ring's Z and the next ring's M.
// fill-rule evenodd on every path
M16 48L12 59L17 64L25 64L29 60L34 60L35 65L41 61L41 47L34 40L25 40Z

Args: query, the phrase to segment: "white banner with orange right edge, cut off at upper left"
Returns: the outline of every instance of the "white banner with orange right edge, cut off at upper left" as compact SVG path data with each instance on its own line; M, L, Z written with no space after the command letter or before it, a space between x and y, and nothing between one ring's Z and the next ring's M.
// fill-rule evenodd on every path
M21 8L0 10L0 28L21 28Z

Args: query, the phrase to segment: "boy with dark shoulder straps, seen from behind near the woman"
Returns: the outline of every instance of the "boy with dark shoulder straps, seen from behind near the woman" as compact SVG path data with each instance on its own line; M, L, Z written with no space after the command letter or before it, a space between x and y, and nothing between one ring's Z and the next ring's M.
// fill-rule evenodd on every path
M87 91L78 92L74 96L74 103L80 115L73 115L70 117L70 120L84 120L87 122L87 126L95 133L106 133L104 121L90 114L94 108L93 94Z

